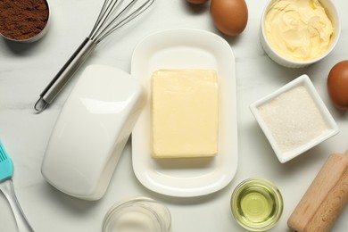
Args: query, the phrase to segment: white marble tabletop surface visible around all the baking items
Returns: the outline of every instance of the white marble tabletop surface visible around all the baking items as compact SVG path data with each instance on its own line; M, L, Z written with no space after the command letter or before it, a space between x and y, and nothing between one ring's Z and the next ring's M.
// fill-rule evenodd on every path
M336 110L328 99L326 88L331 67L348 59L348 2L335 0L341 16L342 34L333 53L308 68L292 70L272 62L261 48L258 33L267 0L246 1L249 21L244 33L239 37L225 37L236 56L239 139L238 170L227 187L215 194L195 198L175 198L150 192L133 173L128 143L107 194L102 200L86 202L49 186L40 173L54 121L80 71L46 112L34 114L33 104L87 36L101 2L49 0L52 24L46 37L30 45L0 39L0 138L14 162L14 187L33 228L37 232L101 231L104 214L113 203L128 196L145 195L170 208L173 231L243 231L229 211L230 195L244 178L262 177L278 185L285 201L283 216L271 231L289 231L286 220L327 156L334 152L343 153L348 148L348 113ZM162 29L176 28L206 29L220 35L211 22L208 4L192 8L184 0L157 0L145 20L107 38L85 65L101 63L129 71L131 54L139 40ZM341 131L293 161L281 164L253 119L249 104L301 74L311 77ZM16 231L12 212L3 195L0 195L0 213L0 231ZM348 209L333 231L346 231L347 219Z

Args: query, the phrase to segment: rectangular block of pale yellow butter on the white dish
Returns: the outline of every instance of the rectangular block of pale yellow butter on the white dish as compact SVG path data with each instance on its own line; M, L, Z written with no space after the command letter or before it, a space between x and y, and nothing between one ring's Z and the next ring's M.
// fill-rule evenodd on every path
M152 77L154 158L211 157L219 145L215 70L157 70Z

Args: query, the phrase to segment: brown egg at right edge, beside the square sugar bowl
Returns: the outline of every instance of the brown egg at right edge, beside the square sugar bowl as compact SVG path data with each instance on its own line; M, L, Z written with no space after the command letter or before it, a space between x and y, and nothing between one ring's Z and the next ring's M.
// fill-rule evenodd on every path
M348 110L348 61L338 62L330 70L327 91L337 108Z

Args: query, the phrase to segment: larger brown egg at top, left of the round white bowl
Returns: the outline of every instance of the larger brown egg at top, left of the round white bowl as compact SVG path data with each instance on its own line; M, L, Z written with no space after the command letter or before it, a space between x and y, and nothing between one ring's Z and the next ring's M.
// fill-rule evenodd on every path
M246 27L248 8L244 0L211 0L211 18L222 33L236 36Z

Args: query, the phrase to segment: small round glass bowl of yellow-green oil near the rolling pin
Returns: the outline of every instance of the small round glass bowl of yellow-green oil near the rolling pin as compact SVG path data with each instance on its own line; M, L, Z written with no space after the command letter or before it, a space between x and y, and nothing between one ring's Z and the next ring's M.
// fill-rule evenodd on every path
M263 178L242 181L233 191L230 204L238 224L250 231L272 228L283 212L283 197L278 187Z

